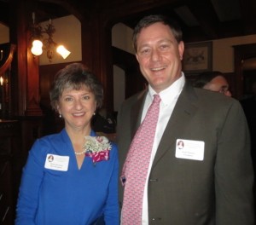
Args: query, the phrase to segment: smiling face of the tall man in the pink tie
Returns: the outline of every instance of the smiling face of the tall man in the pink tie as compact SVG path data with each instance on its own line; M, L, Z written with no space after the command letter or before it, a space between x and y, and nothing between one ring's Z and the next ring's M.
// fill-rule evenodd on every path
M183 42L177 43L169 26L160 22L137 36L137 61L148 84L159 93L181 77Z

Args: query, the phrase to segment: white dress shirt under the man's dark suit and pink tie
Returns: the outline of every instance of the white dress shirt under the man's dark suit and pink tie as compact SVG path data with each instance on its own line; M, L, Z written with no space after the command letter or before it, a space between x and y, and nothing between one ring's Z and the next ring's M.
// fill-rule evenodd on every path
M183 86L185 84L184 74L182 72L181 78L178 78L169 88L162 90L159 95L161 98L160 101L160 113L158 118L158 123L155 130L154 144L151 153L151 159L148 167L148 176L153 164L154 156L159 146L161 137L163 136L164 131L166 130L166 125L172 115L173 108L176 105L177 98L181 93ZM142 121L146 116L148 107L151 105L154 98L155 91L148 86L148 95L143 107L143 117ZM148 177L146 184L148 183ZM143 195L143 222L142 225L148 225L148 185L145 185L144 195Z

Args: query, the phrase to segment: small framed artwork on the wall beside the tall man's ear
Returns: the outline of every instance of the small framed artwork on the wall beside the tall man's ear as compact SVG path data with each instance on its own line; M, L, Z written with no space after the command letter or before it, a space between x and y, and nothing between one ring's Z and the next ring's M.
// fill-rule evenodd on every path
M183 53L183 72L200 73L212 70L212 42L187 43Z

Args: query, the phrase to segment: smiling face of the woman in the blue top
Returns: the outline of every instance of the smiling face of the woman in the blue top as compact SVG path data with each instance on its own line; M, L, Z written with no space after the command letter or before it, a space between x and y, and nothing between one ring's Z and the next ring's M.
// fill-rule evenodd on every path
M87 130L96 110L95 95L85 85L81 89L64 89L59 100L58 112L65 120L67 130Z

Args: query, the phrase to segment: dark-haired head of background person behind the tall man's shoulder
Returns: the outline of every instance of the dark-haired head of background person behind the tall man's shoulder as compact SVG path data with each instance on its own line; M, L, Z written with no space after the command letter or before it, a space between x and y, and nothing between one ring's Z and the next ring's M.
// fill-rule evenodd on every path
M230 85L224 74L219 71L202 72L195 80L194 86L201 89L209 89L231 97Z

